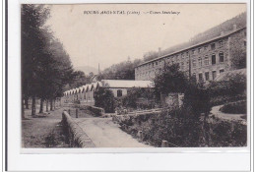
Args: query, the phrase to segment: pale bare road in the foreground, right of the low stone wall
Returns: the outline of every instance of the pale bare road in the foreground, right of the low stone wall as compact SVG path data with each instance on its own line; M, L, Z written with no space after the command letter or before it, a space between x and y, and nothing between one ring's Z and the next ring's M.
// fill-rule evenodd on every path
M119 129L111 118L74 118L97 147L148 147Z

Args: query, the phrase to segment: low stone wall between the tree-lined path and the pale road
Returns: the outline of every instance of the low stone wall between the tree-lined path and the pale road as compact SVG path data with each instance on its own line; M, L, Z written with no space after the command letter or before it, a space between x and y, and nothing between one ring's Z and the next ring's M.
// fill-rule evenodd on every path
M95 143L87 136L83 129L64 111L62 113L64 133L71 147L95 147Z

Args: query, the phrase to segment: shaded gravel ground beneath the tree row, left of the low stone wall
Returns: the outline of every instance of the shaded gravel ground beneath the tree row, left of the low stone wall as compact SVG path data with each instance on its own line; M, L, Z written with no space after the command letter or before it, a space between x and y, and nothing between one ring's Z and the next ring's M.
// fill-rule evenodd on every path
M67 147L60 125L63 109L50 111L46 116L32 118L31 110L25 111L22 120L22 147Z

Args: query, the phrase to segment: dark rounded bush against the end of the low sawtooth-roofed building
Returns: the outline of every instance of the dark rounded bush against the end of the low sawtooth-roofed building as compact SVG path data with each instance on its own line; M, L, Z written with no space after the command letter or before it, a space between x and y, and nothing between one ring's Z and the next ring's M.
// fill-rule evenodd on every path
M106 113L114 112L114 94L110 89L98 87L95 91L95 106L101 107Z

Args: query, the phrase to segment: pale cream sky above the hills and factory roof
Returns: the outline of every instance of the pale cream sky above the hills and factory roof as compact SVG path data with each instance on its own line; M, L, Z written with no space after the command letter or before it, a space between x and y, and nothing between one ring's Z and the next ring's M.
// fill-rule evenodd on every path
M245 4L51 5L47 25L75 68L97 69L99 63L103 70L128 57L142 59L146 52L186 42L245 11Z

